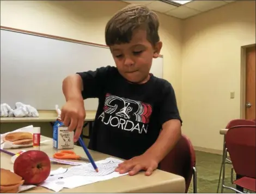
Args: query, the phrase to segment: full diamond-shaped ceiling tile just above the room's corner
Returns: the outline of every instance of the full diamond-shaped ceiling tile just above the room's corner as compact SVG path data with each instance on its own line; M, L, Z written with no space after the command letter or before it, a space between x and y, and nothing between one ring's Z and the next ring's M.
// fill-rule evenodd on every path
M200 13L200 11L190 9L185 6L181 6L174 10L170 10L170 11L166 12L167 15L178 17L181 19L185 19L187 17L191 17L191 16L197 15L199 13Z

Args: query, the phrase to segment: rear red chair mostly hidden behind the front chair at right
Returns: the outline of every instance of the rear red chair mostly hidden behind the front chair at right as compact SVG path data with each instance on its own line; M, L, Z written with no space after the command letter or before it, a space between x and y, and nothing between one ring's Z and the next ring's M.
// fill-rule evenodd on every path
M239 126L239 125L255 125L255 124L256 124L256 122L254 120L234 119L234 120L229 121L228 125L225 128L229 129L231 127ZM222 174L222 183L225 179L225 164L232 164L231 161L227 157L227 148L225 147L225 137L224 137L224 142L223 142L222 156L223 157L222 157L222 163L221 163L220 176L219 176L219 179L218 179L217 193L218 193L218 190L219 190L219 187L220 187L221 174ZM226 156L226 157L224 157L224 156ZM222 169L223 169L223 172L222 172ZM223 187L221 187L221 193L223 193Z

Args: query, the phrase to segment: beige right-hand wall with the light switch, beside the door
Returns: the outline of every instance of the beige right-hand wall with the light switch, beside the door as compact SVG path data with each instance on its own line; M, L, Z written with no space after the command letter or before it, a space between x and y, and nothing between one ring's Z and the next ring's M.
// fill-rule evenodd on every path
M240 118L241 46L255 43L255 1L231 3L183 24L182 130L194 146L221 150L218 130Z

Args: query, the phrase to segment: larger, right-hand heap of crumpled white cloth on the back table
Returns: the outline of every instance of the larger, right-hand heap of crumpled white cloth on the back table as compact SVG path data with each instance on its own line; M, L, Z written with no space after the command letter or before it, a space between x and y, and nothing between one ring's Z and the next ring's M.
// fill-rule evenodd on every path
M14 117L39 117L38 111L31 105L25 105L21 102L16 102L14 109Z

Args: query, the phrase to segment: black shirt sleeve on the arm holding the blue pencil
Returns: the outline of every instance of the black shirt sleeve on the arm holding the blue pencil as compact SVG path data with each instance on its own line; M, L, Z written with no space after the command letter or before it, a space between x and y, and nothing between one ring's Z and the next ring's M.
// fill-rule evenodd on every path
M81 76L83 81L83 99L100 98L103 94L105 83L108 80L107 76L112 68L111 66L107 66L97 68L95 71L89 70L87 72L77 73Z

